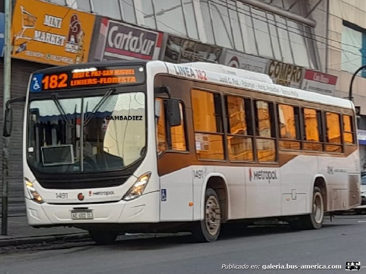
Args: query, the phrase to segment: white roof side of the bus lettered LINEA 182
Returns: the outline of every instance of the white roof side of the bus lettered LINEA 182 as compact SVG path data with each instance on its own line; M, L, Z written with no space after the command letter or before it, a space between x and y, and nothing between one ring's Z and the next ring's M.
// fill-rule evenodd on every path
M161 61L152 62L161 63ZM248 90L274 94L288 98L296 98L316 103L324 103L327 105L353 108L353 104L347 99L273 84L268 75L261 73L249 72L243 69L232 68L215 63L163 63L166 66L169 74L177 75L184 78L224 84L228 86L245 88Z

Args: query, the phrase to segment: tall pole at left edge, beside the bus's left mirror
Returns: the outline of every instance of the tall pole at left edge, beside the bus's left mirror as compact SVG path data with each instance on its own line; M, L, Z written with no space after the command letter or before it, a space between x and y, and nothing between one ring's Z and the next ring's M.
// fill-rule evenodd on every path
M3 64L3 98L2 117L5 117L6 102L10 99L11 83L11 18L12 0L5 0L5 40L4 40L4 64ZM3 125L4 126L4 125ZM8 158L9 137L2 137L2 196L1 196L1 235L8 234Z

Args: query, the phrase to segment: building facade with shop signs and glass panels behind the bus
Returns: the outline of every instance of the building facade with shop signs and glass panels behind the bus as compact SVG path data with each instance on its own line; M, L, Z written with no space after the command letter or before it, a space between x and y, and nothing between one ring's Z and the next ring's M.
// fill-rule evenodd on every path
M352 2L360 2L347 5L356 19L363 0ZM344 5L342 0L14 0L11 97L25 95L37 69L118 59L216 62L268 74L281 85L346 97L351 72L339 64L349 58L341 54L342 45L351 42L343 41L343 26L356 31L364 26L361 18L344 24ZM344 51L362 55L352 50ZM358 77L354 85L360 103L363 80ZM364 113L366 105L361 117ZM17 105L9 159L11 215L24 214L22 115Z

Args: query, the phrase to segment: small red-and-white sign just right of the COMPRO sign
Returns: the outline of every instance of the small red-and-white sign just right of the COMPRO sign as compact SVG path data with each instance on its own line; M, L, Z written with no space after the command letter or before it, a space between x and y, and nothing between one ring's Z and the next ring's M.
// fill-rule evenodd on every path
M305 76L301 83L301 88L333 96L336 83L337 76L307 69L305 70Z

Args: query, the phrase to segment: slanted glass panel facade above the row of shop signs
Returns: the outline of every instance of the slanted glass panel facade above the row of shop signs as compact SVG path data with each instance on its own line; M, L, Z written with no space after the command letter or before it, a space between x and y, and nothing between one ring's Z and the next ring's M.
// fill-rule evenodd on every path
M259 1L300 16L307 13L303 0ZM319 68L311 27L239 0L76 0L76 3L82 10L180 37Z

